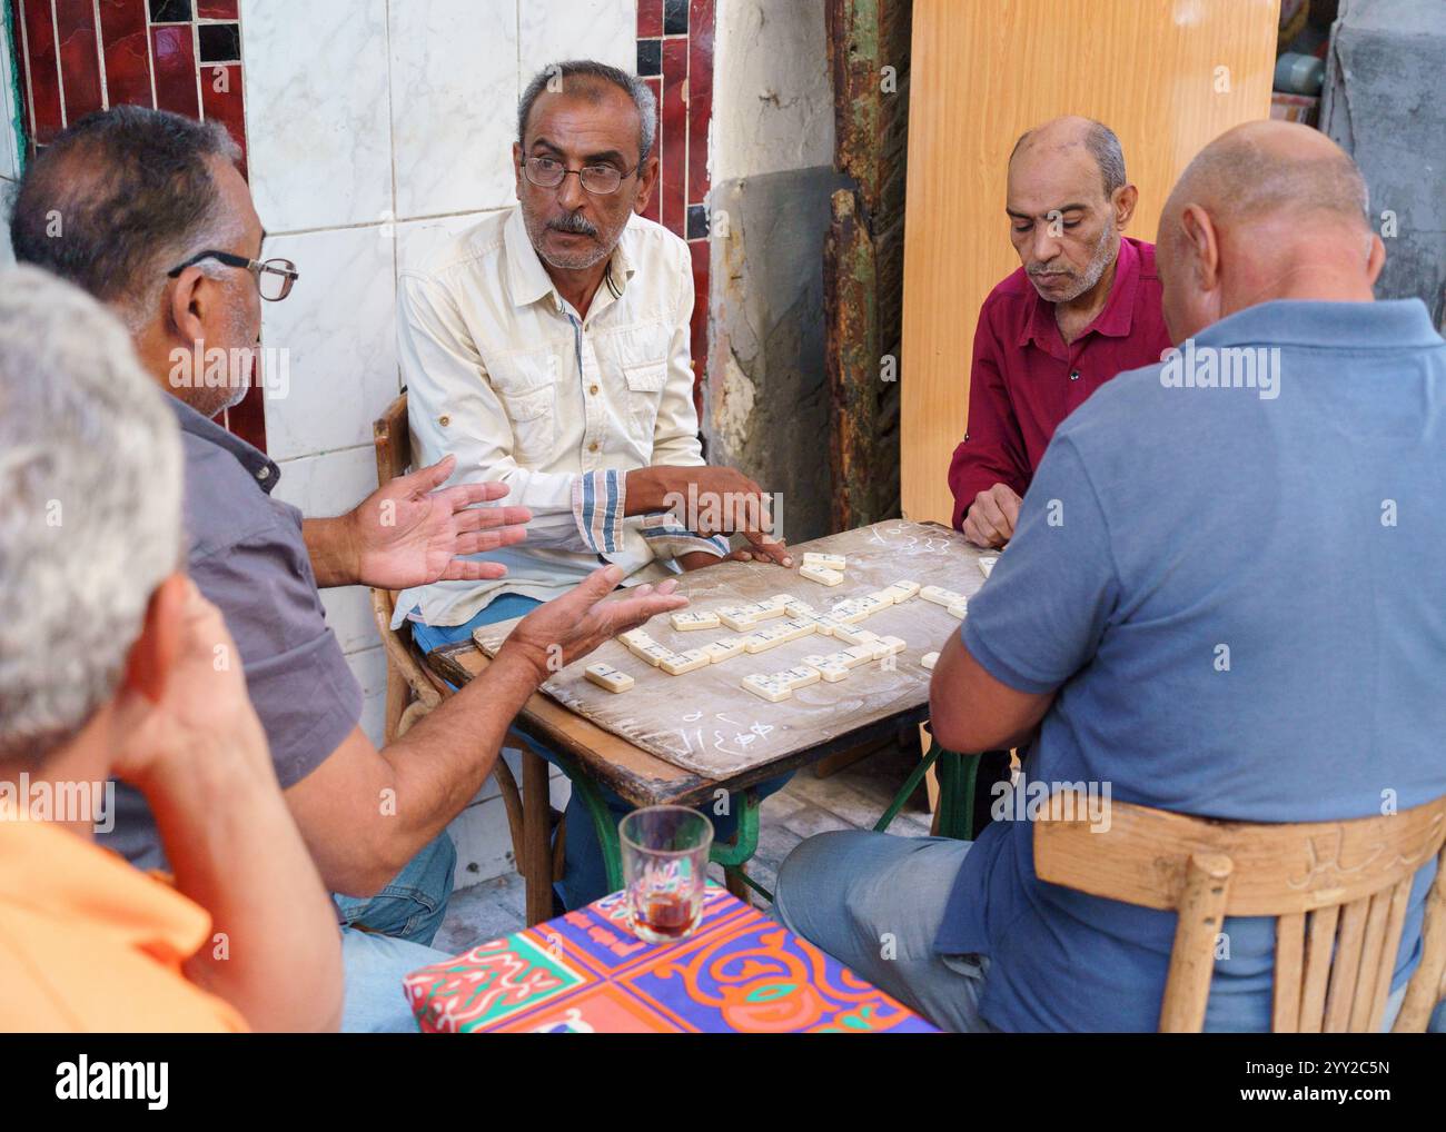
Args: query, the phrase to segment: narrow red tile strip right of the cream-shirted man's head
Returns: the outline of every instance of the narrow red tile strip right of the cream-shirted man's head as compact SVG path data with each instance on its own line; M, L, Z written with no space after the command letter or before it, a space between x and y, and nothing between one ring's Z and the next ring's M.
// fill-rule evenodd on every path
M694 399L703 413L709 354L709 124L716 0L638 0L638 74L658 98L658 188L643 215L693 253Z

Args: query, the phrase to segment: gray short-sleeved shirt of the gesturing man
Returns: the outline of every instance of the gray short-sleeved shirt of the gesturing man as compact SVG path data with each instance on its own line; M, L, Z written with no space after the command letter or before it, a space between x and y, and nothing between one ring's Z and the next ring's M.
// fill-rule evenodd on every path
M351 733L362 688L327 627L301 512L272 497L276 464L181 400L168 402L185 450L188 570L236 639L285 789ZM140 867L165 866L150 808L123 782L116 827L98 840Z

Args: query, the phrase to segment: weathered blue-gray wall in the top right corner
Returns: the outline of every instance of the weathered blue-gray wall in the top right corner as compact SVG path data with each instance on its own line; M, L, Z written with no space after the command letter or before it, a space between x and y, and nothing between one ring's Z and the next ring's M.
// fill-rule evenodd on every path
M1343 0L1320 129L1361 166L1385 243L1377 298L1446 325L1446 19L1442 0Z

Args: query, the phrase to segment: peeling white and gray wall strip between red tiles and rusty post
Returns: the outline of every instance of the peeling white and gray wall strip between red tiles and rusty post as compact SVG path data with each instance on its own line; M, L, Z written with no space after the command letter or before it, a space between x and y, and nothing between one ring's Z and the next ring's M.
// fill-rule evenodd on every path
M784 536L829 529L823 240L833 87L823 4L724 0L714 39L710 146L709 460L784 496Z

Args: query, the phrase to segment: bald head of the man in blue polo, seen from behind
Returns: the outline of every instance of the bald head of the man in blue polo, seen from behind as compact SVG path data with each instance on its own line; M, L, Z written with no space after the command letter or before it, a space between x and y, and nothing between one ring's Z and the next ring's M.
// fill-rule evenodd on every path
M1290 121L1226 130L1160 215L1171 337L1271 299L1369 301L1385 252L1366 208L1361 171L1323 133Z

